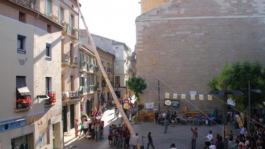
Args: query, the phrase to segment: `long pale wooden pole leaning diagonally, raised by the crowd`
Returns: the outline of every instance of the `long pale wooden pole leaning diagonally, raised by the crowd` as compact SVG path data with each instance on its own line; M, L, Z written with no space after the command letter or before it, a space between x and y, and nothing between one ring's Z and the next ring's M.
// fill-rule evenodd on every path
M85 19L84 19L82 13L81 13L80 6L79 6L79 1L78 1L78 0L77 0L77 5L78 5L79 12L80 12L80 16L81 16L81 18L82 18L82 20L83 20L83 23L84 23L85 27L86 27L86 32L87 32L87 35L88 35L89 42L90 42L91 45L92 45L92 51L94 52L94 54L95 54L95 56L96 56L96 59L97 59L97 62L98 62L98 66L99 66L100 70L102 71L102 74L103 74L103 76L104 76L104 78L105 78L105 81L106 81L106 83L107 83L107 85L108 85L108 88L109 88L110 91L111 91L111 95L112 95L112 97L114 98L114 101L115 101L115 103L116 103L116 105L117 105L117 108L118 108L119 111L120 111L120 114L121 114L121 116L122 116L122 118L123 118L123 120L124 120L124 123L127 125L128 129L130 130L130 134L131 134L131 136L133 136L133 135L135 135L135 133L134 133L134 131L133 131L133 127L132 127L131 123L129 122L129 120L128 120L126 114L124 113L123 108L122 108L121 105L120 105L119 99L117 98L117 96L116 96L116 94L115 94L115 92L114 92L114 89L113 89L113 87L112 87L112 85L111 85L111 82L110 82L110 80L108 79L108 75L107 75L107 73L105 72L103 65L101 64L101 60L100 60L100 58L99 58L99 55L98 55L98 52L97 52L97 50L96 50L95 44L94 44L93 39L92 39L92 37L91 37L91 35L90 35L89 31L88 31L87 26L86 26ZM137 145L137 149L140 149L140 144L139 144L139 142L138 142L138 145Z

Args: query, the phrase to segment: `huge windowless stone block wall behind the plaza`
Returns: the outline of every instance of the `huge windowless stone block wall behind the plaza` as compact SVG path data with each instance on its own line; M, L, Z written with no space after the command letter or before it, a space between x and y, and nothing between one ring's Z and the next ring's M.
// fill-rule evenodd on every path
M260 61L265 66L264 6L264 0L170 0L137 17L137 75L149 83L141 103L158 107L159 78L163 98L165 93L171 99L173 93L186 94L203 112L215 107L221 112L218 99L207 100L207 84L226 61ZM195 100L189 91L197 91ZM161 110L173 110L164 106L163 98ZM180 107L174 109L183 115L186 100L179 95L177 100ZM188 111L199 111L189 102Z

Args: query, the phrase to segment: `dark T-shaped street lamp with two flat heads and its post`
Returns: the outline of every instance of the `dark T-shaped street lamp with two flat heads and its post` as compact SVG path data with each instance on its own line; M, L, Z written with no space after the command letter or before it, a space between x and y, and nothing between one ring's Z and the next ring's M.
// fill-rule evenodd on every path
M227 95L232 94L232 95L243 95L243 93L239 90L232 90L232 91L227 91L226 89L226 80L223 80L223 91L219 90L214 90L210 91L211 95L217 95L217 96L223 96L223 102L226 103L227 101ZM224 121L224 126L227 126L227 104L223 104L223 121ZM223 134L226 134L225 130L223 130ZM227 149L228 147L228 140L226 137L224 137L224 149Z

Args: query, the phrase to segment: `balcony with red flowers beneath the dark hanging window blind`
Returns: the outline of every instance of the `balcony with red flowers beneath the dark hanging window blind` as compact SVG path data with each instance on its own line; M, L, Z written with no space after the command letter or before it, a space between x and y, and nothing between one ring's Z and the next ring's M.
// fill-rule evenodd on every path
M16 102L16 109L15 112L23 112L23 111L28 111L31 109L31 95L21 95L20 93L17 94L17 102ZM30 101L28 104L21 104L18 102L18 99L22 100L28 100Z

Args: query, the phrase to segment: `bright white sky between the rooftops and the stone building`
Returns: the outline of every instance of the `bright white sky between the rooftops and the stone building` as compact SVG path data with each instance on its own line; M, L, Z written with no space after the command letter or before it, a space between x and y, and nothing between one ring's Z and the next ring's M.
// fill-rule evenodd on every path
M79 0L89 32L119 42L134 50L135 19L141 15L141 0ZM82 19L79 28L85 29Z

